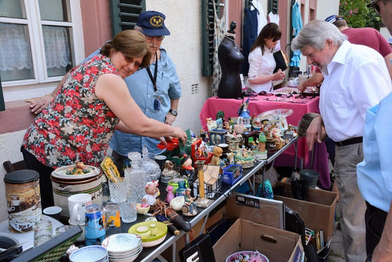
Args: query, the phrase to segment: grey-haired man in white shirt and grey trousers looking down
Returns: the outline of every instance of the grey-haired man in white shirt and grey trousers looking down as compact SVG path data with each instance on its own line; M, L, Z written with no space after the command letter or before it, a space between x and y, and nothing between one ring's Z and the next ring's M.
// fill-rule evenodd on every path
M321 143L322 122L336 143L333 168L340 194L340 223L346 261L365 261L366 205L358 188L356 165L363 160L363 126L366 110L392 91L391 78L381 54L347 41L333 24L308 22L292 41L308 64L324 75L320 88L320 117L306 132L310 150ZM384 129L387 129L385 126Z

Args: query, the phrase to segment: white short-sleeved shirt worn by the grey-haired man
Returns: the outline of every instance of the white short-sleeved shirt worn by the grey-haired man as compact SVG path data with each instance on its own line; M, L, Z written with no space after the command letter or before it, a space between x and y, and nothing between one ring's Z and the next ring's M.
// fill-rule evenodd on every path
M384 58L344 41L323 75L319 109L326 133L337 142L363 136L366 110L392 91Z

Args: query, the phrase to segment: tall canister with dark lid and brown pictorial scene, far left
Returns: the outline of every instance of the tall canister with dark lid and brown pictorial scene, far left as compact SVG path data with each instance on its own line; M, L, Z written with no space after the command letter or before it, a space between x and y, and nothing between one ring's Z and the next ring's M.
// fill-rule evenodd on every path
M40 175L35 170L17 170L4 176L8 227L13 233L33 231L42 214Z

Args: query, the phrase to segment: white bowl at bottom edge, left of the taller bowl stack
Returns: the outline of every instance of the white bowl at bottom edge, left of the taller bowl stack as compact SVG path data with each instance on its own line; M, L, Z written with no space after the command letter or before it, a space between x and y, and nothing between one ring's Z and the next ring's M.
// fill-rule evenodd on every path
M107 249L101 246L86 246L70 254L70 262L108 262Z

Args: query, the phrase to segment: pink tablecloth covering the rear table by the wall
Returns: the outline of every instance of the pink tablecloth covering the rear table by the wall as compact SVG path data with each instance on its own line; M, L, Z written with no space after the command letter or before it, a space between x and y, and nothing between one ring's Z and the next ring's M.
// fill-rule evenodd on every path
M216 113L220 110L225 113L225 120L227 120L227 117L238 117L237 111L239 110L241 103L243 103L243 101L240 99L218 99L216 96L207 99L199 115L203 129L207 130L206 118L211 117L212 119L216 119ZM262 112L273 109L292 109L293 113L287 117L287 123L298 126L299 120L303 114L306 112L319 112L319 97L316 96L312 99L310 99L310 97L295 99L294 96L292 96L287 99L286 96L255 96L251 97L248 103L250 115L259 115ZM308 163L309 161L308 150L306 138L300 138L298 141L297 154L298 157L305 160L305 163ZM317 157L315 157L313 169L319 171L320 182L322 182L323 187L329 187L328 157L324 143L319 145L316 150L317 152L315 153L317 153ZM293 157L295 154L294 146L289 147L283 154ZM320 163L317 164L317 161ZM322 167L322 170L319 170L319 167Z

